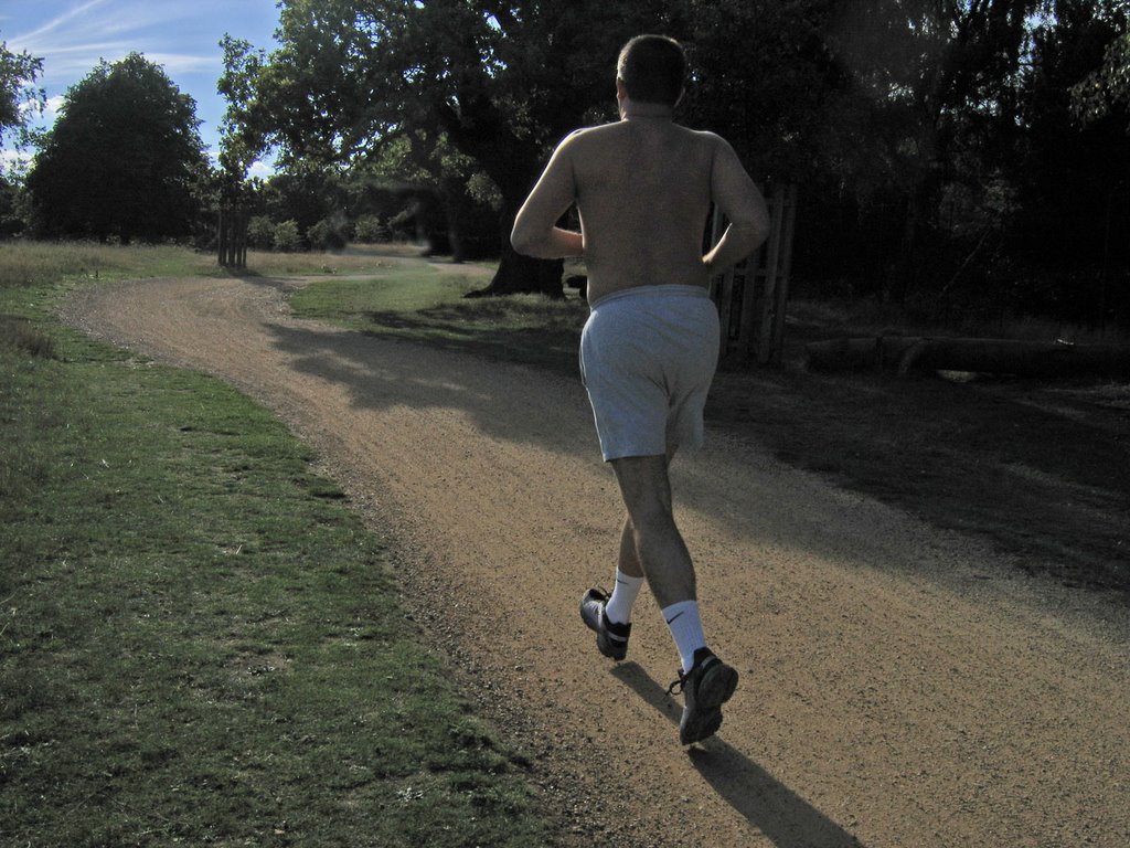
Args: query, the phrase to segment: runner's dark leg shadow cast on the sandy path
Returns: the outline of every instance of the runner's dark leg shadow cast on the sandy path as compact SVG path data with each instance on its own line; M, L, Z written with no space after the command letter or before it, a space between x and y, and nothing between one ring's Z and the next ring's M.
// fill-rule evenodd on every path
M660 715L678 724L681 708L641 666L621 663L611 670L611 675L654 707ZM779 848L847 848L862 845L718 736L692 746L687 755L719 797Z

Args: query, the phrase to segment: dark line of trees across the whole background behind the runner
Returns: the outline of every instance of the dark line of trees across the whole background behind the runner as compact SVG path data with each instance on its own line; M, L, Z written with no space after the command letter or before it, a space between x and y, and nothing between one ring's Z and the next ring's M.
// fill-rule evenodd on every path
M508 249L514 211L562 136L615 119L620 44L666 32L692 64L680 120L800 187L799 280L932 314L1130 321L1130 0L279 7L275 51L224 42L220 173L191 98L142 58L68 93L27 178L38 232L167 237L250 198L332 246L399 206L457 256L501 254L490 293L557 294L559 266ZM36 66L0 59L11 128ZM249 183L268 148L280 174Z

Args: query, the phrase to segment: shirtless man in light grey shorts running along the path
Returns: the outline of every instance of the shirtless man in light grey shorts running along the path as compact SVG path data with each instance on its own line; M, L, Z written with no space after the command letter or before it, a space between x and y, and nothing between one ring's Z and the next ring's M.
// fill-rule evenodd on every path
M677 448L703 442L720 341L710 277L760 245L768 214L730 145L675 123L685 73L678 42L657 35L629 41L616 75L621 120L562 141L511 237L529 256L584 257L591 314L581 370L627 516L615 588L610 596L590 589L581 616L601 654L624 659L632 606L646 580L679 651L672 690L680 686L684 694L679 739L686 745L721 726L738 673L706 646L668 467ZM573 204L580 233L557 226ZM703 256L712 204L730 223Z

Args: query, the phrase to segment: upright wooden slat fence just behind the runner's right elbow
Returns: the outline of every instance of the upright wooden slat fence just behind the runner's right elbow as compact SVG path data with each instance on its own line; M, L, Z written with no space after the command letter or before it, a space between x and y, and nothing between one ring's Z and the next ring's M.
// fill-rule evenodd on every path
M776 185L765 199L770 207L770 237L754 256L711 280L711 297L722 321L723 366L781 363L797 187ZM724 230L725 220L715 211L711 243L716 243Z

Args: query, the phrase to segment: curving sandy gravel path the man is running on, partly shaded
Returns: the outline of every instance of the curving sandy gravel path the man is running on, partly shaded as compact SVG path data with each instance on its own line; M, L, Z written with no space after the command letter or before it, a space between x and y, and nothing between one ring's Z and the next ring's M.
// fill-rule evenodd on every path
M619 666L577 617L619 517L579 382L295 320L287 285L129 284L68 317L231 381L318 449L533 754L564 845L1130 845L1124 611L1068 609L966 539L714 434L676 464L676 499L742 678L688 754L654 603Z

